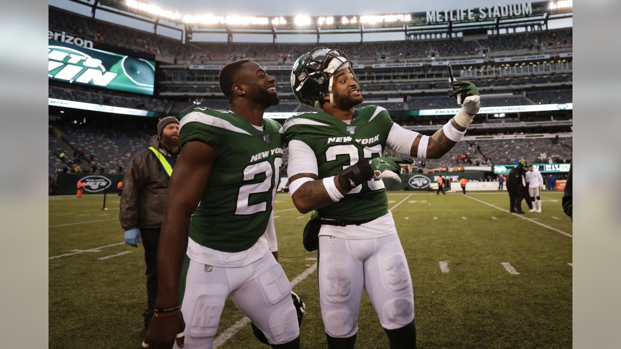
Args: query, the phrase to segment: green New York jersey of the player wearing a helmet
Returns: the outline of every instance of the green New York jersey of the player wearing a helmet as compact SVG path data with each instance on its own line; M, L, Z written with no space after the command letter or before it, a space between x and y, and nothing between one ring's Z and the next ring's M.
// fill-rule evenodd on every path
M284 123L285 142L300 140L317 157L319 178L336 176L360 158L381 156L392 119L383 107L355 109L347 124L325 112L309 112L290 117ZM317 210L327 219L375 219L388 213L388 197L383 181L368 181L352 189L343 199Z

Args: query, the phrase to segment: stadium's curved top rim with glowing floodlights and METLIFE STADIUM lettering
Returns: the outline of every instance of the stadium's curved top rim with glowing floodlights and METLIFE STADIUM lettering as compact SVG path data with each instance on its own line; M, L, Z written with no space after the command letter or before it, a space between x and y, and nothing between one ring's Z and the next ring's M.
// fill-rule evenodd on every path
M406 39L421 34L446 34L453 37L487 34L488 30L548 28L548 22L573 16L572 0L520 2L516 4L465 7L427 12L403 12L392 14L325 14L325 16L222 16L219 14L181 14L156 4L138 0L70 0L91 8L91 16L97 10L142 20L178 30L181 37L191 39L197 34L227 34L232 42L233 34L364 34L403 32Z

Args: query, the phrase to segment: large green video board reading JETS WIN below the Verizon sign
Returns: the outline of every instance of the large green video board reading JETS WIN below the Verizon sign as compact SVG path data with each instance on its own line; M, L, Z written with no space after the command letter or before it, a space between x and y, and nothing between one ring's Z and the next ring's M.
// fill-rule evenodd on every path
M155 61L48 40L48 78L152 96Z

